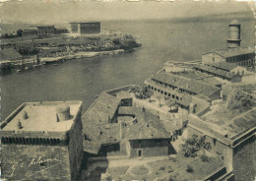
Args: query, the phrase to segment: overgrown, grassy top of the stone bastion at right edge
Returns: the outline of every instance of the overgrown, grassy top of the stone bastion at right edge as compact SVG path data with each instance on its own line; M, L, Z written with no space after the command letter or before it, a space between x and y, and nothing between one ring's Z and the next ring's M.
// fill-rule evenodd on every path
M243 91L233 91L228 96L227 102L212 105L201 118L224 130L231 138L256 126L256 98Z

